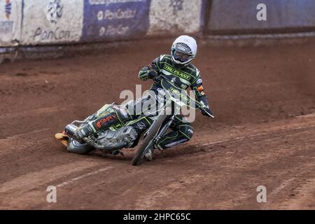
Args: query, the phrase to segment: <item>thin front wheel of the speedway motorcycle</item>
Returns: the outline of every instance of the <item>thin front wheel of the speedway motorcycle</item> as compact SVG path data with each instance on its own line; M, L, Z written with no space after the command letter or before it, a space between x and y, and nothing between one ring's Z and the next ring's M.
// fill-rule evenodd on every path
M139 165L139 163L141 162L141 159L144 158L144 155L146 154L148 149L153 147L153 139L155 135L158 133L158 131L160 130L162 123L164 123L166 119L167 119L167 115L163 114L150 127L150 132L148 132L148 134L146 135L146 138L144 139L144 143L140 146L136 155L134 155L134 158L132 159L132 165L134 166Z

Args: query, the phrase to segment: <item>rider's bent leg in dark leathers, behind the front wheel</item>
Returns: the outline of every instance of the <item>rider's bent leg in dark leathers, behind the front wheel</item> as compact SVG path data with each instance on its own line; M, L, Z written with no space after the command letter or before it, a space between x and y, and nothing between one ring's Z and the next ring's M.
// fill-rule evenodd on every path
M171 132L166 134L165 137L163 137L158 144L155 145L155 148L160 150L170 148L172 146L183 144L193 137L193 126L190 125L186 118L181 115L176 116L174 123L171 125L171 130ZM146 159L152 160L155 148L146 153Z

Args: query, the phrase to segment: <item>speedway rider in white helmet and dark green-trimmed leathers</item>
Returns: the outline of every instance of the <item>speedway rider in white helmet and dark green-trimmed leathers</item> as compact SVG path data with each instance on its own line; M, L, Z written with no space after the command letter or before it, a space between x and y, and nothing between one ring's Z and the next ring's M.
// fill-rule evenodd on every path
M209 109L207 96L204 94L200 71L191 63L196 55L197 43L195 39L190 36L179 36L172 45L171 55L161 55L156 58L151 64L148 64L148 66L145 66L140 70L139 78L141 80L154 80L150 90L156 94L162 90L157 81L161 74L168 80L172 80L172 83L182 90L187 90L188 87L190 87L195 91L197 101L203 104L205 111L207 111L207 113L202 111L202 114L204 116L209 116L212 115L212 113ZM118 118L116 118L117 116L106 115L92 120L90 123L87 123L77 130L76 139L80 140L92 133L99 132L99 130L104 130L110 125L117 123L118 120L120 122L134 120L132 126L139 134L142 134L148 127L150 127L152 120L141 116L143 111L141 113L131 113L130 111L134 112L137 104L143 105L146 101L151 100L152 98L154 98L152 95L147 95L137 101L127 103L123 107L117 106L116 115L118 115ZM102 122L104 120L106 122ZM176 120L174 120L174 123L171 125L171 129L172 132L166 134L151 151L146 153L145 157L147 160L153 159L153 151L155 148L160 150L170 148L189 141L193 137L192 125L190 125L187 119L181 115L176 116Z

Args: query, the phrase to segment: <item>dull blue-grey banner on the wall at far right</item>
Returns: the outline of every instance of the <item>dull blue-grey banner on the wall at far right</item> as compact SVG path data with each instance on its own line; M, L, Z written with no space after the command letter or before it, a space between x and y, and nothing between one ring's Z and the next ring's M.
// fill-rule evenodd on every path
M257 19L258 4L264 3L266 20ZM314 0L214 0L208 29L250 30L315 27Z

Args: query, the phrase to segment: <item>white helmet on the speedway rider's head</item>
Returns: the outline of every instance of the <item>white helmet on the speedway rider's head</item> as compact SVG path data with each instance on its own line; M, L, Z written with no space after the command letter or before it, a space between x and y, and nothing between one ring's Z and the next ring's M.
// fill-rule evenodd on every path
M188 66L197 55L197 42L191 36L179 36L172 45L171 55L175 66Z

